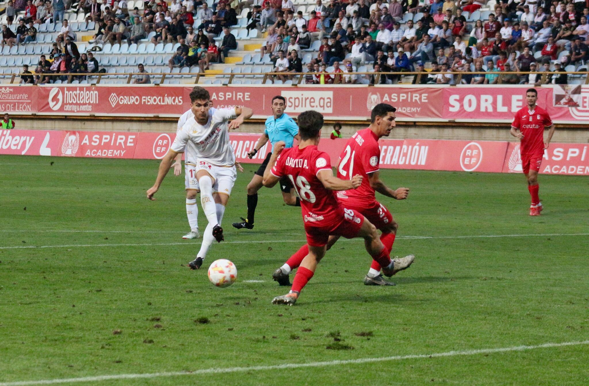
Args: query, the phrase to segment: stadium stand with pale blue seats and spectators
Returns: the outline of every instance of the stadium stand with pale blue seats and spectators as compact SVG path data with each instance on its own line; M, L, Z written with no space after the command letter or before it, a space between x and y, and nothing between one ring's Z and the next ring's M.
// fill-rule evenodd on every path
M35 84L124 84L133 82L138 64L155 84L540 85L588 79L585 2L204 4L0 3L0 81L29 79L27 65ZM284 59L277 61L280 50Z

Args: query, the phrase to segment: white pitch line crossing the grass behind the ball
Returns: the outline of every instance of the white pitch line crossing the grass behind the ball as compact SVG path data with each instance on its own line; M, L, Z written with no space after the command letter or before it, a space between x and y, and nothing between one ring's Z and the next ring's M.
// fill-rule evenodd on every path
M297 234L293 234L297 235ZM302 234L300 234L302 235ZM404 239L463 239L463 238L496 238L496 237L546 237L546 236L589 236L589 233L542 233L521 235L464 235L464 236L398 236ZM339 241L353 241L354 239L340 239ZM225 241L223 244L256 244L266 242L306 242L306 240L243 240ZM65 245L16 245L14 247L0 247L0 249L33 249L33 248L74 248L74 247L150 247L152 245L192 245L189 242L154 242L144 244L65 244Z

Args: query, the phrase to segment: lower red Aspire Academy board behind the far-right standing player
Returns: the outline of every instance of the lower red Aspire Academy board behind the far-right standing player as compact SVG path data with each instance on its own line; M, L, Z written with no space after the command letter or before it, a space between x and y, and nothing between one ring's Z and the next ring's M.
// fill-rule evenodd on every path
M504 173L522 172L517 142L509 142L502 171ZM540 173L589 175L589 145L550 144L544 151Z

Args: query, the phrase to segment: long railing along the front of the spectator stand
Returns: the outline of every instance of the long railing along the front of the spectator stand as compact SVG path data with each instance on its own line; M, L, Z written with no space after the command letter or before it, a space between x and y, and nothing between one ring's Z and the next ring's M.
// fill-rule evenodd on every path
M195 72L195 73L191 73L191 72L186 72L183 74L178 74L178 73L172 73L172 72L148 72L148 75L150 75L151 78L157 79L157 82L151 82L151 84L163 84L164 81L166 81L166 79L187 79L187 78L191 78L194 76L194 84L204 84L201 83L201 79L214 79L215 81L219 81L221 80L221 84L232 84L232 82L234 81L234 79L252 79L256 76L259 77L263 77L262 78L262 84L267 84L267 81L272 82L273 78L276 78L277 76L284 76L286 78L288 78L290 81L292 81L292 85L298 85L298 84L304 84L304 80L305 77L308 75L330 75L331 77L333 77L333 84L342 84L342 78L345 75L364 75L366 77L371 78L372 76L375 76L374 82L373 84L379 84L380 80L381 80L381 76L391 76L391 75L396 75L396 76L413 76L415 77L415 75L417 75L417 78L415 79L415 84L420 84L423 76L430 76L430 75L438 75L438 74L442 74L442 72L252 72L252 73L247 73L247 74L219 74L216 76L211 76L209 74L203 74L201 72ZM453 82L452 84L448 84L448 85L458 85L461 84L462 81L462 77L464 75L491 75L491 76L498 76L497 78L497 82L495 84L505 84L502 83L504 77L506 75L518 75L518 76L522 76L522 75L530 75L530 74L538 74L541 75L540 81L538 81L538 84L550 84L550 78L554 75L557 74L565 74L567 75L567 79L568 76L571 75L572 78L568 79L568 84L589 84L589 71L574 71L574 72L564 72L564 71L559 71L559 72L554 72L554 71L510 71L510 72L471 72L471 71L466 71L466 72L444 72L443 74L448 74L448 75L452 75L454 76ZM31 73L31 74L22 74L22 73L18 73L18 74L4 74L4 75L0 75L1 77L4 78L8 78L10 77L10 81L8 82L8 84L18 84L20 82L20 77L22 75L29 75L29 76L34 76L35 78L37 77L43 77L43 78L67 78L66 80L62 80L62 84L72 84L71 82L74 81L76 78L88 78L88 84L100 84L100 82L102 80L105 79L112 79L112 78L117 78L117 79L123 79L126 78L126 83L127 84L131 84L133 82L133 79L135 77L138 76L143 76L145 75L145 73L140 73L140 72L121 72L121 73L96 73L96 72L91 72L91 73L65 73L65 74L36 74L36 73ZM219 76L219 77L217 77ZM160 79L161 78L161 79ZM583 79L584 78L584 79ZM576 82L571 82L571 80L573 79L577 79ZM16 81L16 82L15 82ZM183 82L182 84L187 84L186 82ZM372 82L370 83L372 85ZM407 82L399 82L399 84L411 84L411 83L407 83ZM516 83L516 84L522 84L521 81ZM290 84L288 84L290 85Z

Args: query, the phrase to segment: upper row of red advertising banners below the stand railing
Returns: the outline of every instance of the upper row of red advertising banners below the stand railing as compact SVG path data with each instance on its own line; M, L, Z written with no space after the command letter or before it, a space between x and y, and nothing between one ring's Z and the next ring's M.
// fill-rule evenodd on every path
M368 121L379 103L397 108L399 121L508 123L525 105L527 85L518 86L213 86L214 107L248 106L254 118L272 114L276 95L286 99L286 112L296 117L313 109L328 119ZM184 85L14 85L0 86L1 111L14 114L118 115L179 117L190 108L191 86ZM537 88L538 105L557 123L589 122L589 86Z

